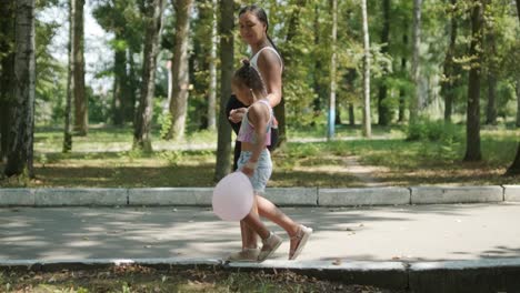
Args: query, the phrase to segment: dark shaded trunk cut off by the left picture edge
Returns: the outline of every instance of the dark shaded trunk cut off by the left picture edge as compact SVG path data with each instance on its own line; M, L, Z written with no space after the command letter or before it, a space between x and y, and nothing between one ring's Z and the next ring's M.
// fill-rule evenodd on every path
M0 1L0 163L9 148L9 117L13 103L14 1Z

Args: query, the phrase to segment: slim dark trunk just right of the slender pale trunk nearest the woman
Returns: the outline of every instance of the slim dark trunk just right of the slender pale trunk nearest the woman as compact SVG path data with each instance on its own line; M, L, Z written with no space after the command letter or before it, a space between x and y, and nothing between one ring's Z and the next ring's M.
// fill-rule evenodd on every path
M383 47L381 48L381 53L388 53L390 43L390 0L383 0L383 28L381 31L381 43ZM388 72L384 72L386 74ZM381 79L381 84L379 85L379 94L378 94L378 113L379 113L379 125L388 125L390 124L391 115L390 109L386 103L387 99L387 84L386 78Z

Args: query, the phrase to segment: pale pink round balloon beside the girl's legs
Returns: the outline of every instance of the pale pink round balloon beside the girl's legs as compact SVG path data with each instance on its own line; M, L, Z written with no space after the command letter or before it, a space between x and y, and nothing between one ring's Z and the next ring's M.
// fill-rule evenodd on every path
M240 172L228 174L213 189L213 212L224 221L240 221L251 211L253 190L249 178Z

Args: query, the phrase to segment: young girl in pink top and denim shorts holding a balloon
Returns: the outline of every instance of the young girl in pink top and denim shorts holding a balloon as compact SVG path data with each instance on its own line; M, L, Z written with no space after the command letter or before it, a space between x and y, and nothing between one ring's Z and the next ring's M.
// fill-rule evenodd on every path
M282 213L273 203L262 198L266 185L272 173L271 154L267 146L271 143L272 109L266 99L267 90L262 78L249 61L237 70L232 89L237 98L244 104L250 104L242 118L242 124L237 140L241 142L238 170L249 176L253 186L256 201L251 212L242 220L262 239L262 249L243 247L229 256L229 261L259 261L268 259L280 246L282 240L269 231L261 222L260 215L283 228L291 239L289 260L298 257L307 243L312 229L298 224ZM261 203L261 204L259 204Z

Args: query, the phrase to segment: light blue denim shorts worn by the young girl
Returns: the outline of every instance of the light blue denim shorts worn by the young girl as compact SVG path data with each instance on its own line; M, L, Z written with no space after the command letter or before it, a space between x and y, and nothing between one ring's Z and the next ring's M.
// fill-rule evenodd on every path
M238 170L241 170L242 166L249 161L251 158L252 152L242 151L240 153L240 158L238 161ZM268 149L264 149L260 153L260 158L258 158L258 166L254 169L254 173L252 176L249 178L251 181L251 185L253 186L254 194L263 194L266 192L266 185L269 181L269 178L272 173L272 162L271 162L271 153Z

